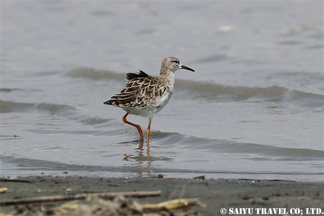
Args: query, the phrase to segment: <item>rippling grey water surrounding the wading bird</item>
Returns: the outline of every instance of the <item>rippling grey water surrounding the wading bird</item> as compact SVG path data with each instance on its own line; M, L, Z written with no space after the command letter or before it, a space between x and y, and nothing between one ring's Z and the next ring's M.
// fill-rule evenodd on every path
M1 1L0 176L323 181L323 25L323 1ZM195 72L147 146L103 102L165 56Z

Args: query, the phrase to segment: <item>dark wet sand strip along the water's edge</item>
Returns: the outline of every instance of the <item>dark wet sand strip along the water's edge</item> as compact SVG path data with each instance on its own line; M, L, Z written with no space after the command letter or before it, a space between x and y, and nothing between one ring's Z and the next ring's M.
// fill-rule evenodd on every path
M50 176L19 179L26 182L0 182L0 187L7 188L5 193L0 194L1 201L78 193L161 190L161 196L135 199L141 204L146 204L178 198L199 198L207 207L195 207L191 211L203 216L221 215L222 208L226 209L226 215L230 208L233 208L231 211L237 211L235 208L253 208L253 215L256 215L255 208L265 208L267 211L270 208L284 208L288 214L291 214L292 208L293 211L299 208L304 215L306 211L313 211L306 208L321 208L324 211L324 182ZM54 206L64 202L55 202ZM1 206L1 212L13 213L14 207Z

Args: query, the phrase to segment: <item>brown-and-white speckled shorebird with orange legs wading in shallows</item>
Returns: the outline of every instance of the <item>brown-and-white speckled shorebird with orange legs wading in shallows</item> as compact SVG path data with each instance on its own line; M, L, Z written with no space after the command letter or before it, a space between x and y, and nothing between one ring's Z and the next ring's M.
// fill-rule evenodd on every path
M122 118L123 121L137 128L141 140L144 140L141 126L128 121L126 117L128 114L148 117L146 136L149 143L152 118L170 100L174 86L174 72L179 69L194 71L182 65L177 58L168 56L162 61L158 77L150 76L141 70L139 73L127 73L125 79L128 82L124 89L104 104L124 109L126 114Z

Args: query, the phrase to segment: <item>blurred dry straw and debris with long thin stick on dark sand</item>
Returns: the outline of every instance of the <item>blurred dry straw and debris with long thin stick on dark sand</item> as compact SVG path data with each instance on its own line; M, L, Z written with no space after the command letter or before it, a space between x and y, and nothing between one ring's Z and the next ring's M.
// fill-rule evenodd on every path
M15 216L195 216L198 213L191 208L206 207L198 198L176 199L157 204L141 204L133 199L160 194L161 191L84 193L1 200L0 205L14 205ZM58 207L54 203L66 200L72 201Z

